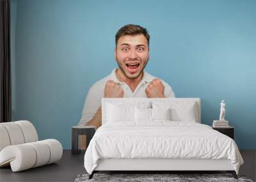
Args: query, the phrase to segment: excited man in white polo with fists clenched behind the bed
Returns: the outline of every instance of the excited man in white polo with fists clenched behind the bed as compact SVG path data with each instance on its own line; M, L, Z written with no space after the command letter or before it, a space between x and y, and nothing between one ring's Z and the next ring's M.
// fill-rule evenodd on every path
M145 72L149 59L150 36L147 29L129 24L115 36L115 60L119 68L90 88L78 125L101 126L101 99L174 98L172 88Z

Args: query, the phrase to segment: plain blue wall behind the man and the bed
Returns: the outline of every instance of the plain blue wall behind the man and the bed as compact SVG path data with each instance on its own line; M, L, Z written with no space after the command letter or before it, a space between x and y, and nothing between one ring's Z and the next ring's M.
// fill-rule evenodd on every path
M175 96L202 98L202 123L220 102L241 149L256 149L256 1L11 0L13 121L71 148L88 89L117 65L115 34L146 27L147 72Z

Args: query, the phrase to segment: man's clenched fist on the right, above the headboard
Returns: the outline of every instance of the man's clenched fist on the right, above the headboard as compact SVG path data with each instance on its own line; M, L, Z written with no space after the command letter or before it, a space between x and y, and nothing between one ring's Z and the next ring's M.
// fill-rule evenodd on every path
M164 85L159 79L154 79L149 82L145 92L148 98L165 98Z

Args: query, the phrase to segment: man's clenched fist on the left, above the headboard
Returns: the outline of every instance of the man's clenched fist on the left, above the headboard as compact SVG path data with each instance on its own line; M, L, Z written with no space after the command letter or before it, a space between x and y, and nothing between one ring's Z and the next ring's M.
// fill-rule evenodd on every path
M124 91L119 83L108 80L104 89L104 98L123 98Z

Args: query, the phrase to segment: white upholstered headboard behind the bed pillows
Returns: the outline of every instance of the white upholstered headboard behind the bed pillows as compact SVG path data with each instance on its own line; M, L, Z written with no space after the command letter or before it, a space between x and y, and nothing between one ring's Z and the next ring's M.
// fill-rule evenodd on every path
M201 123L201 105L200 98L102 98L102 125L106 123L107 106L108 103L113 105L129 105L140 106L149 105L154 108L154 105L161 107L161 105L195 105L196 123Z

